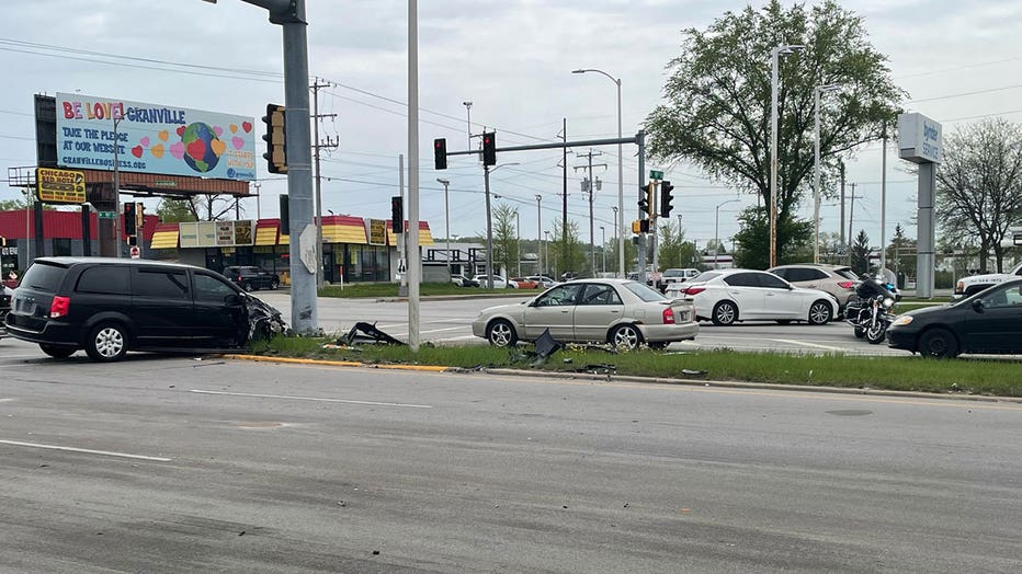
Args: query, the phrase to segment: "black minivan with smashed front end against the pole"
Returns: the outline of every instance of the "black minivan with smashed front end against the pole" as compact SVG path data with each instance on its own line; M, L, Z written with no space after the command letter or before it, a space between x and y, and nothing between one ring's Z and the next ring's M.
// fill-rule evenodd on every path
M280 311L218 273L106 257L35 260L5 325L10 336L38 343L52 357L84 348L101 361L127 351L238 348L283 330Z

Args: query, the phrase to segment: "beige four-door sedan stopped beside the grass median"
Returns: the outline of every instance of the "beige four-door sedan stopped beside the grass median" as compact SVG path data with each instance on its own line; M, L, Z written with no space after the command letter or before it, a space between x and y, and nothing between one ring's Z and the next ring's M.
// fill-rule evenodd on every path
M671 301L628 279L576 279L532 299L484 309L472 323L474 335L495 346L535 341L546 330L557 341L610 343L635 348L665 347L699 333L692 303Z

